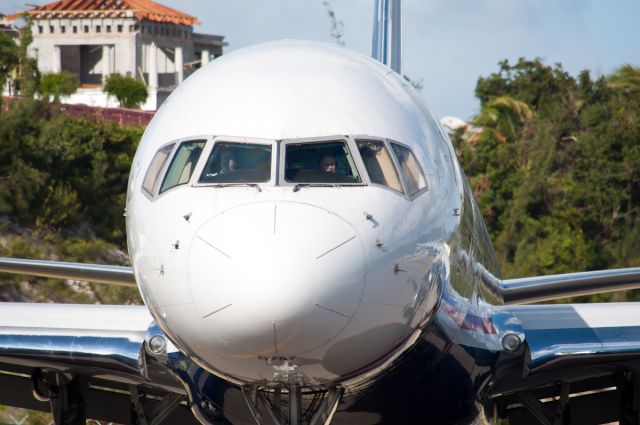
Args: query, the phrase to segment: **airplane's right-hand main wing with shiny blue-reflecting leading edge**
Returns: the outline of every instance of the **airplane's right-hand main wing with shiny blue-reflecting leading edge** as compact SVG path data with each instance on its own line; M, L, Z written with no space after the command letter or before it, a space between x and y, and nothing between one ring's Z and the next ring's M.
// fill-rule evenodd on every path
M599 424L633 411L640 395L640 303L497 311L523 332L520 349L501 354L489 391L511 423L553 424L561 415L570 423Z

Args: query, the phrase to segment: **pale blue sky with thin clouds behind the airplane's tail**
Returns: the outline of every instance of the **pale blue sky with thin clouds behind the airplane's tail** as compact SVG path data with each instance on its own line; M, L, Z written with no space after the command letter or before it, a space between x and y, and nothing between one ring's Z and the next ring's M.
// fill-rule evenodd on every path
M197 32L220 34L230 53L281 39L333 42L323 0L159 0L197 16ZM329 0L346 47L371 52L374 0ZM0 0L5 14L45 0ZM640 0L404 0L403 71L420 81L437 116L468 120L478 77L520 57L561 63L572 75L640 65Z

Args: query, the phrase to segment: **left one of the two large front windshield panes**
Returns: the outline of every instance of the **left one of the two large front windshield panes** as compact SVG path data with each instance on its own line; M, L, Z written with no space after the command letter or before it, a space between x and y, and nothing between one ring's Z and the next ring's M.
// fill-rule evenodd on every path
M216 142L200 183L264 183L271 180L271 145Z

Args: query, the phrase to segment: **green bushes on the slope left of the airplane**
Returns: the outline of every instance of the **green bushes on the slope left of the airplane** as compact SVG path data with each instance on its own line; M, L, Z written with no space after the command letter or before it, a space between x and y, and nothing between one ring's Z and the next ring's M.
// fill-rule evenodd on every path
M0 256L126 264L126 186L141 136L141 128L71 117L31 98L0 112ZM50 281L20 294L5 285L0 297L125 302L136 292Z

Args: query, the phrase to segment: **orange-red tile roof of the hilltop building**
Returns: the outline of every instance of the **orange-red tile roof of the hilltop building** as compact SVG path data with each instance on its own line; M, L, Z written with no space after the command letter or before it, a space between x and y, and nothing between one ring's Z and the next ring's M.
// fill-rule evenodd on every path
M26 11L36 19L119 18L167 22L177 25L200 25L198 18L151 0L59 0ZM22 13L9 16L18 19Z

